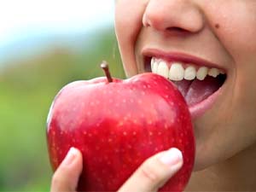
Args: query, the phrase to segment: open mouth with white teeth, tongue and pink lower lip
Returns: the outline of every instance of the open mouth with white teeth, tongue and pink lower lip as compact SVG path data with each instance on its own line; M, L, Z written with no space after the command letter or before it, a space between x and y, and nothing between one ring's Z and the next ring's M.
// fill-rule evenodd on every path
M147 72L157 73L176 84L193 117L210 108L227 79L223 69L191 62L148 56L144 64Z

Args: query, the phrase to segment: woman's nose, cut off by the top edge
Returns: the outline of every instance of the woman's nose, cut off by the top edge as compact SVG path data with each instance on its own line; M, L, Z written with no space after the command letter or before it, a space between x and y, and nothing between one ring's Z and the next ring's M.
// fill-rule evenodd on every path
M200 32L204 17L191 0L149 0L143 26L161 32Z

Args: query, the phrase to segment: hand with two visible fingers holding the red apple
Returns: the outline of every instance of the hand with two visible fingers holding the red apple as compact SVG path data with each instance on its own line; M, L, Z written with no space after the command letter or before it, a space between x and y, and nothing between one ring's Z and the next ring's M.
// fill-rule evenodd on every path
M56 170L51 192L75 191L82 172L82 154L71 148ZM119 192L155 192L160 189L183 165L182 153L177 148L160 152L143 162L124 183Z

